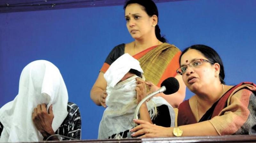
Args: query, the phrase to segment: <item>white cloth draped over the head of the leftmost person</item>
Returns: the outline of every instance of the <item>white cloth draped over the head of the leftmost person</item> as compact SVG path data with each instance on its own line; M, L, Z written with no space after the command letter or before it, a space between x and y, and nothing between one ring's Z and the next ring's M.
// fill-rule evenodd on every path
M0 109L4 126L0 142L38 142L43 136L32 121L32 112L45 103L53 105L52 129L55 132L68 115L68 91L59 69L45 60L29 63L21 72L19 93Z

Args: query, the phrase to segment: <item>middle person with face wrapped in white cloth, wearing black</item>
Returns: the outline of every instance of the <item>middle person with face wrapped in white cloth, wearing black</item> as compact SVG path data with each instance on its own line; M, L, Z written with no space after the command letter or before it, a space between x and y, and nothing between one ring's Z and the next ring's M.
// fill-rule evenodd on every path
M129 54L116 59L104 74L108 106L99 125L98 139L127 138L132 129L138 103L146 97L147 88L138 60ZM174 110L162 97L153 97L140 107L140 119L165 127L174 126Z

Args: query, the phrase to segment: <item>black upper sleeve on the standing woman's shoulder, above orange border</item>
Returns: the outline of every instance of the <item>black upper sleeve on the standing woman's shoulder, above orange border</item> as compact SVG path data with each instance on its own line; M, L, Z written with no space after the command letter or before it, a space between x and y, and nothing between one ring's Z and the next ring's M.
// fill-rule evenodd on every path
M114 47L108 54L105 63L111 65L117 58L124 55L124 43Z

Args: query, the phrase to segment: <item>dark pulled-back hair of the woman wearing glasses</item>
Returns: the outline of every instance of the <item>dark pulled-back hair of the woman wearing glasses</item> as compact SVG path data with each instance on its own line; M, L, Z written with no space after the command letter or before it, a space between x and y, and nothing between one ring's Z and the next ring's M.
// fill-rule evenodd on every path
M200 53L202 53L209 61L211 61L213 63L220 64L220 74L219 74L220 82L222 84L225 84L225 82L224 82L224 78L225 78L224 66L223 66L223 63L222 63L222 60L221 60L219 54L214 49L212 49L211 47L206 46L206 45L192 45L183 50L182 54L180 55L180 59L181 59L181 56L184 53L186 53L189 49L195 49L195 50L199 51Z

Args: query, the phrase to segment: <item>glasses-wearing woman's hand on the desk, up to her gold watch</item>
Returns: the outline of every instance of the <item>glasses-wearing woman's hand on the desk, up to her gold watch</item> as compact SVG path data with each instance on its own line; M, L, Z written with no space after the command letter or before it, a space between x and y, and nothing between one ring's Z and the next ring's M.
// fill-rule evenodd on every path
M149 122L143 121L143 120L133 119L133 121L140 125L130 130L130 132L135 132L132 134L132 137L136 137L141 134L144 134L144 135L140 136L139 138L171 137L172 136L171 128L157 126L155 124L150 124Z

